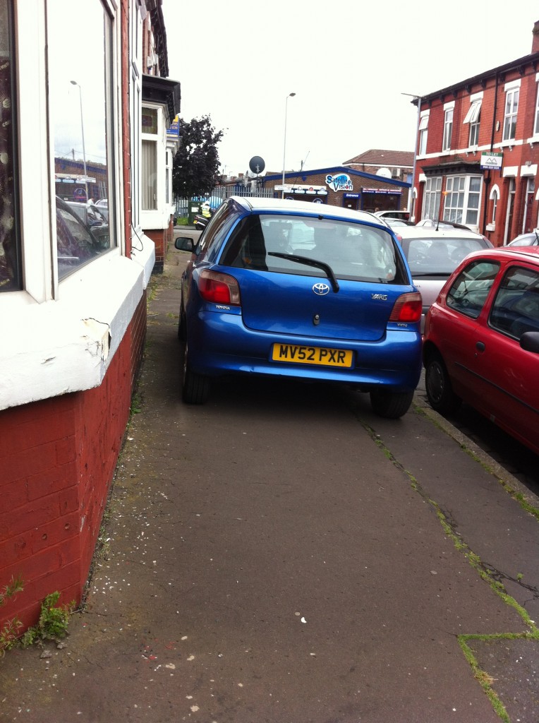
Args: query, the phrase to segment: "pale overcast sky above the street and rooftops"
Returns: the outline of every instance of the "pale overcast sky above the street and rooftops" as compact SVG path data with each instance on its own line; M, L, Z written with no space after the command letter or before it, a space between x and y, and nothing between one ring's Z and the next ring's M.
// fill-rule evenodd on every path
M163 0L181 118L225 135L221 170L337 166L413 151L426 95L531 52L537 0ZM288 93L296 93L288 98Z

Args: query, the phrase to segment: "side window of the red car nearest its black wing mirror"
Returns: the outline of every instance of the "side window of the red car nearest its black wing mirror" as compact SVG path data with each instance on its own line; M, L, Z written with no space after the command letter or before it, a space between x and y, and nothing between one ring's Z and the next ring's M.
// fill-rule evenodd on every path
M526 331L539 331L539 274L514 266L501 281L493 301L492 328L519 339Z

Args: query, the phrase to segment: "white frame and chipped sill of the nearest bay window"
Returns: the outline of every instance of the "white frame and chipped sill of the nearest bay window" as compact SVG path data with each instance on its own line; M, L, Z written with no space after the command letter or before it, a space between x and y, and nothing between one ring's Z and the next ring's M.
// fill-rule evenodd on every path
M114 200L117 210L118 243L58 283L46 57L59 49L48 48L46 3L14 3L24 290L0 294L0 338L9 340L0 345L0 409L100 385L142 299L152 253L155 259L153 247L136 262L121 253L121 12L112 0L101 4L113 19L113 77L107 97L116 172L109 202Z

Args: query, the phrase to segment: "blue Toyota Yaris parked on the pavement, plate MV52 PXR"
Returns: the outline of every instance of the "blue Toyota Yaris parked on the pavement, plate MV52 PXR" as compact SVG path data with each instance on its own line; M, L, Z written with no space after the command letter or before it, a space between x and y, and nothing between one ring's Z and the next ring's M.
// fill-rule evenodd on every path
M421 295L391 229L370 213L231 197L182 277L183 398L210 378L352 385L381 416L405 414L421 373Z

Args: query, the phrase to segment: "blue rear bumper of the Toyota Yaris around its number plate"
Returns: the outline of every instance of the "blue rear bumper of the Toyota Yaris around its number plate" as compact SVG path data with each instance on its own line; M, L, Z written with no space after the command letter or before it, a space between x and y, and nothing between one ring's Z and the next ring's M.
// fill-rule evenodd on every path
M358 342L253 331L240 315L200 311L187 326L189 363L194 372L216 377L259 374L341 382L363 388L414 390L421 375L421 332L389 329L378 341ZM274 343L350 349L351 368L272 360Z

